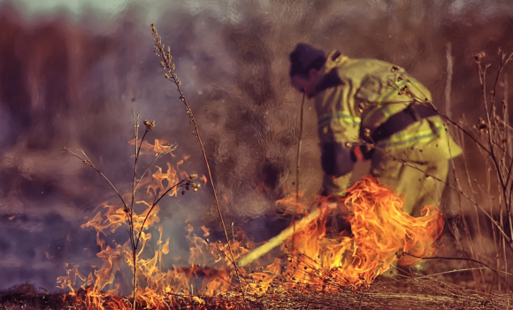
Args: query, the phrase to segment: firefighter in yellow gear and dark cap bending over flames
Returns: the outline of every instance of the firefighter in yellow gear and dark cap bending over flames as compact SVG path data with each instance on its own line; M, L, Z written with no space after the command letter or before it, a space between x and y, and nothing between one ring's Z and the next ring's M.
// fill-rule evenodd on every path
M323 195L341 197L358 160L402 192L406 213L440 205L449 159L462 149L431 105L432 95L400 66L298 44L290 54L295 89L315 98ZM443 182L440 182L443 181Z

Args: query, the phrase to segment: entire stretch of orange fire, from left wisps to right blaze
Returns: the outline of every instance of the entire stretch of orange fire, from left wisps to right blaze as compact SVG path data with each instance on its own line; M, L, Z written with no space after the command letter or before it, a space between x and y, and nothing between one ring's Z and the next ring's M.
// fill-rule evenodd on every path
M162 151L164 143L156 140L154 145L143 143L142 149L149 153ZM359 288L370 284L376 276L396 265L415 262L410 256L399 257L396 252L409 252L422 257L433 255L434 241L443 228L440 211L435 206L425 206L423 216L413 218L402 212L402 198L372 177L348 190L348 196L341 199L320 198L315 205L321 215L306 229L281 244L287 257L272 257L270 254L254 262L250 267L239 267L237 273L227 244L211 242L208 228L195 229L186 221L185 232L189 244L188 266L164 266L163 257L170 252L170 238L163 240L164 228L158 226L158 205L151 215L151 201L157 192L164 192L170 184L179 182L183 159L175 166L167 163L164 172L161 167L142 180L139 205L145 206L142 213L134 214L134 228L142 230L142 244L136 254L138 303L149 308L169 308L181 296L193 296L197 305L203 305L202 296L221 294L277 294L295 285L310 285L318 290L329 291L344 288ZM206 178L203 176L203 182ZM177 191L170 192L177 195ZM126 194L129 195L129 194ZM307 215L310 206L301 197L299 205L295 197L280 200L288 210ZM103 203L103 210L82 225L83 229L96 230L96 243L101 247L97 254L102 266L89 275L82 275L79 266L67 271L57 279L61 289L84 302L88 309L131 309L130 298L119 297L121 290L117 275L124 275L133 269L132 250L129 241L125 244L107 244L103 236L128 226L122 205ZM333 234L326 227L333 211L350 224L351 232ZM143 224L144 221L144 224ZM144 227L142 227L144 225ZM150 227L156 227L151 230ZM201 236L198 236L200 234ZM156 236L157 235L157 236ZM243 231L237 231L230 240L234 260L239 260L258 244L248 240ZM152 237L157 246L150 248ZM288 246L294 244L294 246ZM257 267L257 271L253 270ZM129 275L129 274L128 274ZM77 291L77 286L80 285ZM129 281L127 281L129 283Z

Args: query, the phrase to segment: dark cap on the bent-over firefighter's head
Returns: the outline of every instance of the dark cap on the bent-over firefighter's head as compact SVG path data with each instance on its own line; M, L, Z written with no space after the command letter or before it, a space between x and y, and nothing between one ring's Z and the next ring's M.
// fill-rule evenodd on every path
M308 76L310 69L319 70L325 65L325 52L308 44L299 43L290 53L290 77Z

